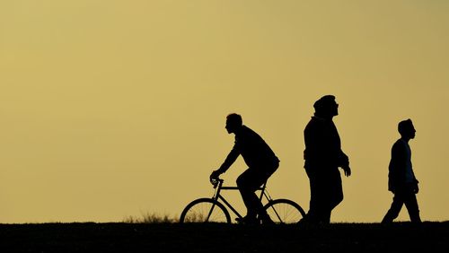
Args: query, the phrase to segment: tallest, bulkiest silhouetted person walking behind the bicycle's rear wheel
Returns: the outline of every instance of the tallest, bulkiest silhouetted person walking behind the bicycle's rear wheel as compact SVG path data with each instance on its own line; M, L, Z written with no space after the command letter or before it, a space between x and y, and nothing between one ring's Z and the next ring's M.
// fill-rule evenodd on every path
M339 167L351 175L348 156L341 150L339 132L332 118L339 115L333 95L313 104L312 119L304 129L304 169L310 182L309 211L300 223L330 223L330 214L343 200Z

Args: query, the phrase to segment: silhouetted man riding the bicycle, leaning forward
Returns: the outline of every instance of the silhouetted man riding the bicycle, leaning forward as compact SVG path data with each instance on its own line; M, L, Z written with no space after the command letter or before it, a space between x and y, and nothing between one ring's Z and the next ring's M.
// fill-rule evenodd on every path
M238 177L237 187L247 208L247 214L238 219L238 222L271 223L255 191L277 170L279 159L260 135L242 124L240 115L232 113L226 117L226 130L229 134L235 135L235 143L223 164L212 172L210 178L217 179L231 167L239 155L242 155L249 168Z

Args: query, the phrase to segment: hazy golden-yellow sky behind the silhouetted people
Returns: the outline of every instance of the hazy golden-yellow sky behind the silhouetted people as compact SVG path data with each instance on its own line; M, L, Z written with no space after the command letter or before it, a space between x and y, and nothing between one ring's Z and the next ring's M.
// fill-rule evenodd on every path
M0 222L178 216L211 196L230 112L281 160L270 194L307 210L303 130L325 94L353 170L332 221L382 219L405 118L422 219L447 220L448 12L437 0L2 1Z

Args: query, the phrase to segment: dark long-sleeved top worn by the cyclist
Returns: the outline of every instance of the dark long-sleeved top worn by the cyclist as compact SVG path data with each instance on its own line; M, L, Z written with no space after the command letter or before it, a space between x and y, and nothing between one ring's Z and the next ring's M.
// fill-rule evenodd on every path
M279 159L271 150L269 144L248 126L242 126L242 128L235 133L233 149L228 154L219 170L222 170L223 172L228 170L239 155L242 155L242 158L248 167L254 169L276 170L279 163Z

